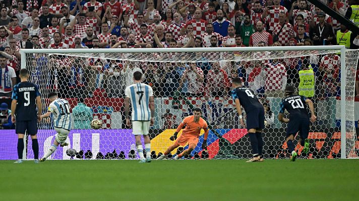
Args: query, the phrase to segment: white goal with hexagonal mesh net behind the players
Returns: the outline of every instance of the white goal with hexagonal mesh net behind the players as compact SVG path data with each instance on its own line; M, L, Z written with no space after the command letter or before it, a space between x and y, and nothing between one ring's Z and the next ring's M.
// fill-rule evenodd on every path
M124 115L124 89L133 83L135 71L141 71L143 82L154 90L155 124L150 130L153 159L173 143L169 137L194 108L202 110L210 125L208 148L201 149L202 133L187 158L252 157L247 130L241 127L230 96L233 77L242 77L265 108L265 158L289 157L286 124L277 120L287 85L313 100L317 116L310 126L309 153L302 153L295 137L299 157L353 158L359 148L354 121L359 119L354 117L358 113L354 77L359 51L340 47L22 50L22 68L29 70L30 81L39 86L44 112L50 91L70 103L74 122L69 146L59 147L52 159L70 159L68 148L77 150L74 159L138 158ZM91 118L76 110L81 104L91 108ZM243 117L246 120L246 114ZM90 128L92 118L102 121L101 129ZM41 157L54 139L52 119L42 121L38 128ZM31 140L27 147L26 157L31 159ZM171 155L187 147L179 147ZM9 157L16 159L13 155Z

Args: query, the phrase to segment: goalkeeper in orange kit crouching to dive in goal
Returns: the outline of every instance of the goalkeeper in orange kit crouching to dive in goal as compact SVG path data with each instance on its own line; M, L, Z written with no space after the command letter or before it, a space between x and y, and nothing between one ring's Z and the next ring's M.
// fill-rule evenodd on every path
M186 117L181 124L178 125L176 132L169 138L171 141L176 140L174 144L169 146L167 150L161 155L158 159L162 160L167 157L167 155L173 151L175 148L185 146L188 142L188 149L184 150L181 154L174 156L174 160L181 158L190 154L197 146L199 141L199 136L201 129L204 130L204 140L202 143L202 149L207 148L207 137L208 137L208 125L207 122L201 118L202 112L201 109L196 108L192 116ZM183 130L182 135L177 138L177 134L181 129L186 126Z

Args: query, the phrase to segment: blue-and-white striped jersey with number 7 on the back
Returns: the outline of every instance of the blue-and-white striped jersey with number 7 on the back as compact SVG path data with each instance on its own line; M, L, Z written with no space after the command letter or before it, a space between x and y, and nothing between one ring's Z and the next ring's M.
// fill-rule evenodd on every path
M131 100L131 120L150 121L151 111L149 103L150 96L153 96L152 87L144 83L135 83L126 87L125 95Z

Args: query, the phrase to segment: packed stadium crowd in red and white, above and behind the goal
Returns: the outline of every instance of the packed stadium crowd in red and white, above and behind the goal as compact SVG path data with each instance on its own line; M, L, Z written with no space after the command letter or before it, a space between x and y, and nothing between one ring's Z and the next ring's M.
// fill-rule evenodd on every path
M359 1L322 2L359 24L354 14ZM15 78L21 48L359 45L359 37L304 0L10 0L1 2L0 15L0 96L8 97L19 81ZM45 64L49 61L51 65ZM313 70L318 96L335 96L340 90L340 55L335 54L226 63L52 56L29 64L36 66L32 81L58 88L63 97L122 97L135 71L144 73L144 82L153 86L156 96L166 97L175 95L176 89L187 96L227 96L229 79L236 76L258 93L282 97L286 85L300 84L303 69ZM359 97L358 75L356 80Z

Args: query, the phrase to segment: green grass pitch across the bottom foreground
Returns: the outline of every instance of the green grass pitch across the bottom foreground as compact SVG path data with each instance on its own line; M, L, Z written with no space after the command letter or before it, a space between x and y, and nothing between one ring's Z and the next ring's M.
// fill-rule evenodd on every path
M359 160L0 161L1 200L357 200Z

